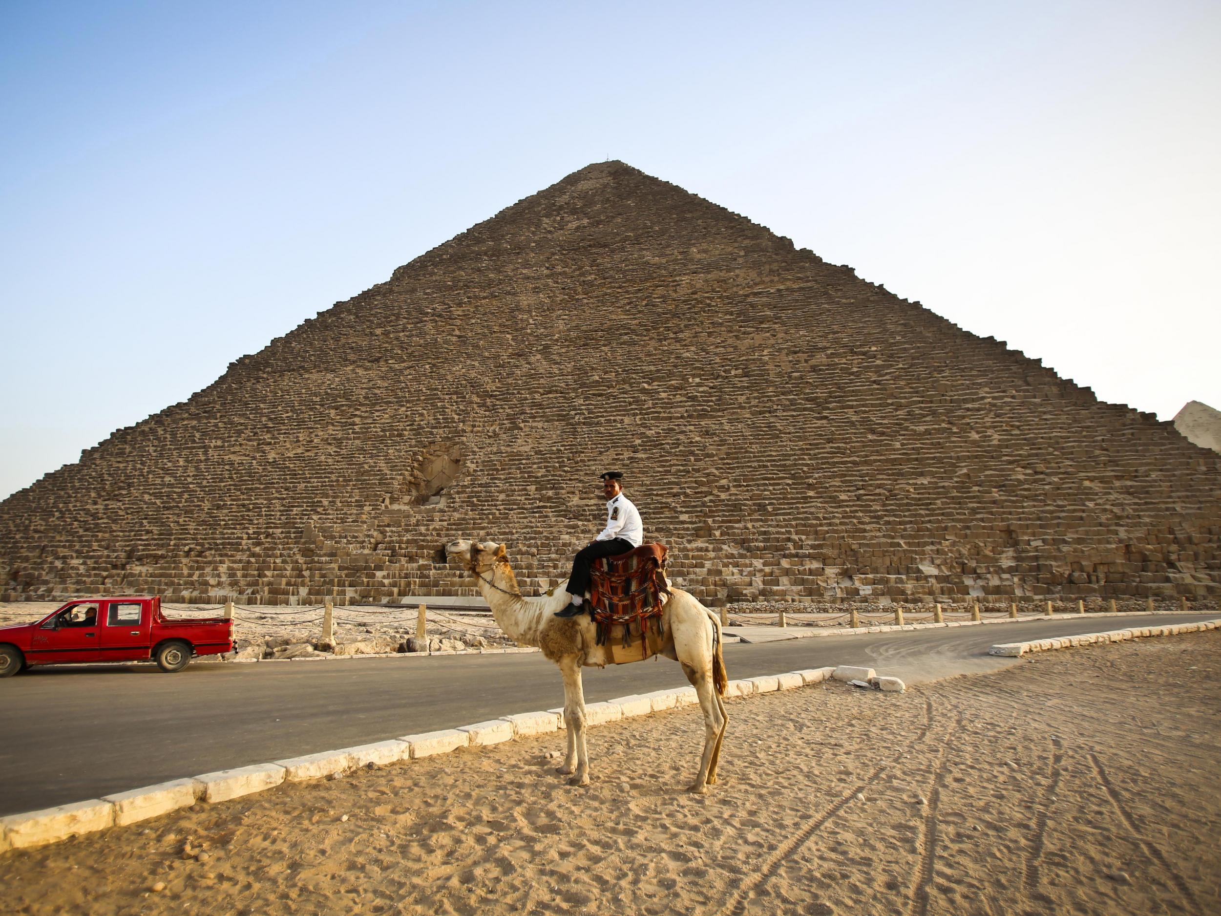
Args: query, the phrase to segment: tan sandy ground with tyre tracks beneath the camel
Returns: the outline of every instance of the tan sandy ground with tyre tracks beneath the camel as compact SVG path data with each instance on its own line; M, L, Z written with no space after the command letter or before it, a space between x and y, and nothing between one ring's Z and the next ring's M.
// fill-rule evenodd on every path
M1221 912L1219 701L1221 633L833 683L728 701L706 796L686 708L592 729L589 788L547 735L9 852L0 885L99 916Z

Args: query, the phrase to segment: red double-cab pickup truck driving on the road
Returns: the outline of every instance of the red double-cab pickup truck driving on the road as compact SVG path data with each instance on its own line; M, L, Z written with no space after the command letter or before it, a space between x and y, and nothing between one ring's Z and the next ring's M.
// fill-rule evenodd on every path
M221 617L171 619L161 598L127 596L70 601L38 623L0 627L0 678L31 664L155 661L161 671L187 667L193 655L233 651L233 622Z

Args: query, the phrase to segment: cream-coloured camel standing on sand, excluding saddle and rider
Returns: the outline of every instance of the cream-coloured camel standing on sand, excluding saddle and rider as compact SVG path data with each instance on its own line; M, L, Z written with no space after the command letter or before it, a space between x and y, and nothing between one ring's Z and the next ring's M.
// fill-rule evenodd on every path
M553 594L526 597L518 587L503 543L458 540L446 545L444 550L449 565L462 567L475 578L505 635L521 645L537 646L548 661L559 667L564 678L568 752L564 766L557 772L571 774L569 785L589 785L581 668L601 668L610 662L609 646L597 645L595 624L589 614L556 617L556 612L569 602L563 587L568 584L567 579ZM720 620L695 597L672 586L662 611L662 625L661 655L683 666L683 673L695 688L703 711L703 755L700 773L690 790L706 793L707 787L717 782L720 741L729 722L722 701L728 678L720 653Z

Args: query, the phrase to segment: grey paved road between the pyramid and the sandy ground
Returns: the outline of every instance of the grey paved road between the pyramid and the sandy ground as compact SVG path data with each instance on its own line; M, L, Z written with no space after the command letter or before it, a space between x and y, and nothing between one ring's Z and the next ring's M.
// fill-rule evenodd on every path
M868 664L908 682L995 671L995 642L1216 614L1028 623L726 645L730 678ZM1189 638L1188 638L1189 639ZM685 686L667 660L585 669L589 702ZM0 680L0 816L197 773L563 705L537 653L275 664L35 668Z

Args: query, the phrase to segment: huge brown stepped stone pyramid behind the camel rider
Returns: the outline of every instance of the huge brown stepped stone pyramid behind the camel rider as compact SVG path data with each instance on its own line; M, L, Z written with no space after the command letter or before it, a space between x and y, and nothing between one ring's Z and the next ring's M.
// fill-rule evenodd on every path
M1221 594L1221 456L623 162L5 500L0 587L398 602L476 536L538 591L607 469L709 605Z

